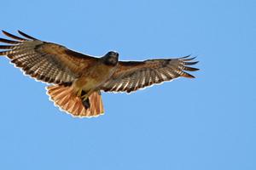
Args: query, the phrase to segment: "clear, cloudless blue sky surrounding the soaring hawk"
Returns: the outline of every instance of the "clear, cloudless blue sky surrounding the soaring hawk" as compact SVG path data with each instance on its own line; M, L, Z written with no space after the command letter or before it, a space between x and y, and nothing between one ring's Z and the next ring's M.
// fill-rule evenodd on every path
M102 94L73 118L0 59L0 169L256 169L256 1L3 1L1 29L120 59L198 56L196 79ZM2 36L1 36L2 37Z

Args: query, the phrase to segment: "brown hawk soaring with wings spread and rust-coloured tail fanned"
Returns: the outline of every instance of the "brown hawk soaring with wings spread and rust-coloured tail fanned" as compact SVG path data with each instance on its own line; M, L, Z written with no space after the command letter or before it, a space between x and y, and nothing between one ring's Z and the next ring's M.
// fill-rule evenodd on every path
M119 61L115 51L96 57L18 32L21 37L3 31L12 39L0 38L6 43L0 45L0 56L7 56L26 75L46 82L49 99L73 116L102 115L101 91L131 93L177 77L194 78L186 71L199 70L189 66L198 62L193 61L195 57Z

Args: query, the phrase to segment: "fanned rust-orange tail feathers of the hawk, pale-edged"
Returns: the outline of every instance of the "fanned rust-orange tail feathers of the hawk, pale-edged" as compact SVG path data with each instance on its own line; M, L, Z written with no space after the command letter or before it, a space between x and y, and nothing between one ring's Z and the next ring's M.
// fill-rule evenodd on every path
M90 108L85 109L82 100L75 94L73 87L63 85L48 86L49 98L62 111L79 117L100 116L103 114L102 96L98 92L90 94Z

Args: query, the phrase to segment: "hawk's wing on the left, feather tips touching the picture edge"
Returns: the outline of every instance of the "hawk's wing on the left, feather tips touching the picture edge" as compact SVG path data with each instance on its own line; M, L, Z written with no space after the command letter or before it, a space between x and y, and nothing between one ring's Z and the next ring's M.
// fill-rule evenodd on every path
M93 65L97 58L80 54L59 44L43 42L18 31L23 37L16 37L3 31L7 37L14 40L0 38L0 55L7 55L11 62L27 75L43 82L67 83L78 78L82 71ZM16 41L17 40L17 41Z

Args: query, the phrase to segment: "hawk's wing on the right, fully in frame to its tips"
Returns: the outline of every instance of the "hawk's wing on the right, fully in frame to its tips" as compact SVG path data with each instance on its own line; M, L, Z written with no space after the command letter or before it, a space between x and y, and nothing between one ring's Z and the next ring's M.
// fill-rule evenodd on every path
M171 81L177 77L194 78L185 71L198 71L189 67L198 61L189 56L179 59L148 59L145 61L121 61L117 70L108 82L102 85L105 92L136 91L139 88L150 86L154 83Z

